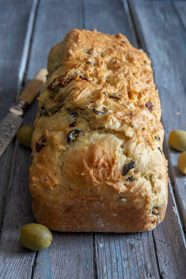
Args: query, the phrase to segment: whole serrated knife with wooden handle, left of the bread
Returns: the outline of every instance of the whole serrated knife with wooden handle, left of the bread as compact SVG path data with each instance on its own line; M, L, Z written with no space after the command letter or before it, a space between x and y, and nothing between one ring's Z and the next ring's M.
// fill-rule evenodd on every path
M23 114L38 95L47 79L47 69L40 69L33 80L24 89L19 99L0 123L0 158L23 123Z

